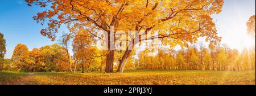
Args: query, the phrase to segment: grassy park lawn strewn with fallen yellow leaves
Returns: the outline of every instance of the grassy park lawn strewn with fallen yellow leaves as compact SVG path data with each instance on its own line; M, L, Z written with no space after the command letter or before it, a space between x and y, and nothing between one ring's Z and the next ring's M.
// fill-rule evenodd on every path
M255 85L249 71L125 70L121 73L0 72L0 85Z

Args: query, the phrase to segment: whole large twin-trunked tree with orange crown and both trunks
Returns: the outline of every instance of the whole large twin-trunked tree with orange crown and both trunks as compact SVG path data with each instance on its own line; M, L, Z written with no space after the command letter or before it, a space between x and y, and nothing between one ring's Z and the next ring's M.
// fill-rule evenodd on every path
M199 37L206 37L210 45L216 45L221 40L217 36L215 24L210 15L221 12L223 0L26 0L28 6L36 5L49 7L39 12L34 19L48 27L41 30L43 36L56 38L61 25L68 26L71 34L84 29L85 34L93 34L97 38L98 30L104 30L107 37L111 35L111 28L139 32L139 41L148 38L162 38L164 45L187 46L197 41ZM156 36L142 38L148 31L160 30ZM114 32L116 33L116 32ZM76 34L75 34L76 35ZM131 37L134 41L136 37ZM114 40L118 40L115 38ZM114 41L115 42L115 41ZM114 43L111 42L111 43ZM108 40L110 43L110 40ZM133 45L138 42L134 42ZM129 44L127 45L127 47ZM114 51L108 46L106 55L106 72L113 72ZM126 50L120 60L117 72L123 72L127 59L132 51Z

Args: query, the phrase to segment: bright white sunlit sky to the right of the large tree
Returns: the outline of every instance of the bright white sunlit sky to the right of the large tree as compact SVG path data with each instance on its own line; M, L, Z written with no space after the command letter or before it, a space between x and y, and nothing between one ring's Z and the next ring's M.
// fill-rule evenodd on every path
M221 14L213 16L221 43L240 51L248 47L252 40L246 34L246 21L251 15L255 15L255 0L225 0Z

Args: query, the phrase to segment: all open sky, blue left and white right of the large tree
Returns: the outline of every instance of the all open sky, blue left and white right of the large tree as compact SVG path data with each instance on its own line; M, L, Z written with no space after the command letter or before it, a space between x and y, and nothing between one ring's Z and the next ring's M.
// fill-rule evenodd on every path
M44 27L32 19L38 12L42 12L42 8L28 7L23 0L1 1L0 32L6 39L5 58L11 57L18 43L27 45L30 50L55 43L40 34ZM246 38L246 21L251 15L255 15L255 0L225 0L221 14L213 16L222 43L240 50ZM60 32L64 30L67 31L62 28Z

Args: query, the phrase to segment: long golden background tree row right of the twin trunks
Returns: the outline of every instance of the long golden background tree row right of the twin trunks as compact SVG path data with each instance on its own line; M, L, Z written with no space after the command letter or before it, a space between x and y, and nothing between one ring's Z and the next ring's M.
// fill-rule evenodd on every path
M179 51L160 49L158 55L147 56L148 50L139 53L135 68L139 69L196 69L241 71L255 69L255 47L241 52L226 45L206 48L193 45Z

